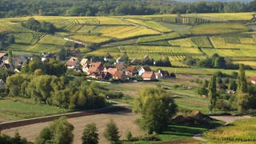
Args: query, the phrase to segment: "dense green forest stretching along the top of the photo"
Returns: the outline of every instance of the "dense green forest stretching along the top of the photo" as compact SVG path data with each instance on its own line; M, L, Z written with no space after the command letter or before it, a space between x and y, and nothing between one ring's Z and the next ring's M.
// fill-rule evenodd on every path
M145 15L186 13L229 13L256 10L252 2L173 2L170 0L1 0L0 18L27 15Z

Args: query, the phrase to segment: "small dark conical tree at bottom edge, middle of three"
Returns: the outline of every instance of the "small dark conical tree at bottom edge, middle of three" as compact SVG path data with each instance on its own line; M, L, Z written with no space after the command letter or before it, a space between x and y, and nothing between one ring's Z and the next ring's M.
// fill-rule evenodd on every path
M82 133L82 144L97 144L98 133L95 123L87 124Z

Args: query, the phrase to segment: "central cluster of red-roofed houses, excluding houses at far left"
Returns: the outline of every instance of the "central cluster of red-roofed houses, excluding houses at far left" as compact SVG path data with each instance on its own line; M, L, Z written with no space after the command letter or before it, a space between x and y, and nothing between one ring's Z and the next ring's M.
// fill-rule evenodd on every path
M110 56L106 56L104 61L109 61ZM116 59L113 66L104 66L102 62L90 62L88 58L71 57L66 62L69 70L80 70L86 74L87 78L94 78L100 81L114 80L130 80L141 79L144 81L154 81L160 78L171 78L174 74L170 74L166 70L158 70L154 72L149 66L127 66L122 61L122 57Z

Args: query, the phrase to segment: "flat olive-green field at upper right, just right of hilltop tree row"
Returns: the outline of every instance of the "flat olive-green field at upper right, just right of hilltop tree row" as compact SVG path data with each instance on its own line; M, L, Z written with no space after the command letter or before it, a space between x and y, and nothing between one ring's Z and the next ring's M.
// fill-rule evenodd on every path
M247 26L240 23L207 23L198 26L193 26L192 34L226 34L244 32L250 30Z

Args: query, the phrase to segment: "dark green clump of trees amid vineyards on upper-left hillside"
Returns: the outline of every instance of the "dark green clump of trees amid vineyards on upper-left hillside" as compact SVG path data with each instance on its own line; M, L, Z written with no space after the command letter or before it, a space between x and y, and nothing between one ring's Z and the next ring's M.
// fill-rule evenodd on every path
M22 26L26 27L27 29L54 34L57 28L50 22L38 22L34 18L29 18L26 22L22 22Z

